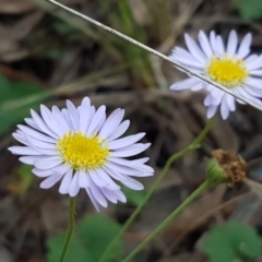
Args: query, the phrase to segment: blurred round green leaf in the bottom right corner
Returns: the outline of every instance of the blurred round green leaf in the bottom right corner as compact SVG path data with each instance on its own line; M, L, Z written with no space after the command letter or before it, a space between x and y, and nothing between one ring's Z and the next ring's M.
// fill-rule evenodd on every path
M210 262L241 262L261 254L262 239L251 226L231 221L209 233L203 251Z

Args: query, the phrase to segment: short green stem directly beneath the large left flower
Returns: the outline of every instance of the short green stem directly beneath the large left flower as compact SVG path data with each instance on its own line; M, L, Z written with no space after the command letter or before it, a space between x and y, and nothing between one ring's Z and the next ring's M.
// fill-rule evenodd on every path
M60 257L59 262L63 262L67 251L68 251L68 247L73 234L73 228L74 228L74 211L75 211L75 198L70 198L70 203L69 203L69 227L68 227L68 234L67 234L67 238L63 245L63 249L62 249L62 253Z

